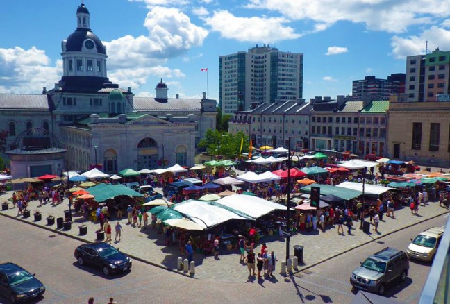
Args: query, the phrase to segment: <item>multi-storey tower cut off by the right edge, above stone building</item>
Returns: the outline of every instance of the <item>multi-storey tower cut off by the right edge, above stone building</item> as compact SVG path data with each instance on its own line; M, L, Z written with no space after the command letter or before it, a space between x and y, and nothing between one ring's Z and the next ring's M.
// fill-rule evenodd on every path
M408 101L450 101L450 51L406 58Z

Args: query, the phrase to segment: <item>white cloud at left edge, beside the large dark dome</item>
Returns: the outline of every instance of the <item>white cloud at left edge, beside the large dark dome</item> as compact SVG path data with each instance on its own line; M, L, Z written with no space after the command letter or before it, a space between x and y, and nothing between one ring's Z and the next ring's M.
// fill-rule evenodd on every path
M45 51L31 47L24 50L0 48L0 91L4 93L38 93L60 78L63 61L51 60Z

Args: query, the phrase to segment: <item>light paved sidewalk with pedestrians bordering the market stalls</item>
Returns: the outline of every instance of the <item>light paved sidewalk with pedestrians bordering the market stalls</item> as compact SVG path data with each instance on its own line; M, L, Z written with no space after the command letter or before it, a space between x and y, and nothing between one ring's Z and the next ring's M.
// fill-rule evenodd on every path
M6 201L12 192L0 195L0 203ZM57 230L56 224L53 226L47 226L46 218L49 215L54 217L64 217L64 211L68 210L68 201L65 199L60 205L52 206L50 203L38 207L38 201L31 201L28 209L31 210L31 216L24 219L22 216L16 217L17 208L12 208L12 203L9 203L8 209L0 211L0 215L15 218L20 221L32 223L36 227L46 228L53 230L57 233L67 235L69 237L76 237L84 242L95 242L96 233L99 229L99 224L92 223L91 221L85 221L79 214L72 213L74 223L71 230ZM33 213L35 210L42 212L42 220L34 222ZM374 233L371 228L371 234L367 235L363 233L363 230L358 229L360 223L354 222L352 235L347 235L347 228L344 227L345 235L338 235L337 226L329 227L322 233L318 230L310 233L297 233L291 237L290 241L290 254L294 254L294 245L301 245L303 249L303 262L299 266L299 270L306 269L321 261L328 260L329 258L346 253L352 248L362 246L367 242L372 242L375 239L383 237L387 234L393 233L402 228L414 225L427 219L431 219L440 214L449 212L445 208L439 206L439 203L427 203L419 207L419 216L412 215L409 208L403 208L395 212L395 218L383 217L383 221L378 226L379 234ZM73 212L73 208L72 208ZM115 218L111 221L112 226L115 225ZM78 226L81 224L88 226L87 235L79 235ZM160 267L167 269L174 269L176 271L177 258L181 255L178 251L178 245L165 246L165 235L158 234L155 229L147 228L133 228L130 225L126 225L126 218L121 220L124 231L122 233L122 242L114 244L120 248L121 251L137 257L141 260L145 260L151 264L156 264ZM43 230L44 232L44 230ZM113 232L114 237L114 232ZM414 237L411 235L411 237ZM282 237L271 236L263 239L263 242L267 243L269 251L274 251L278 257L277 271L280 271L280 262L285 259L286 244ZM380 245L382 248L382 244ZM256 248L256 252L260 251L260 246ZM238 251L221 250L219 260L215 260L213 255L205 256L200 253L194 253L194 260L196 262L195 278L202 280L218 280L220 282L245 282L248 280L247 267L239 263Z

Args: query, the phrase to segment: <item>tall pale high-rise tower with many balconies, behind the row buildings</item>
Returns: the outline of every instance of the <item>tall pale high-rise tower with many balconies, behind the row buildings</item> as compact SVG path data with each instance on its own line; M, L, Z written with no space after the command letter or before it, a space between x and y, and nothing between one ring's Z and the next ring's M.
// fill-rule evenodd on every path
M302 96L303 53L263 44L248 52L219 56L219 106L224 114Z

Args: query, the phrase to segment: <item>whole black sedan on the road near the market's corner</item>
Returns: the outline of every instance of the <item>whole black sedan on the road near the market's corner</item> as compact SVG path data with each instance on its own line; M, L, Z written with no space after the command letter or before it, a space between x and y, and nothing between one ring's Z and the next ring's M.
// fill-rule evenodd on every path
M105 276L131 269L131 259L106 243L78 246L75 249L74 256L80 266L99 267Z

